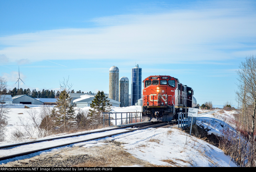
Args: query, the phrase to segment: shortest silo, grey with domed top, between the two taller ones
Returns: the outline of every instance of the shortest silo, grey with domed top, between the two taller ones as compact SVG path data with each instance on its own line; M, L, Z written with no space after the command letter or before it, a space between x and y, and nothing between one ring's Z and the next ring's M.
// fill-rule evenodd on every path
M119 79L119 101L120 107L129 106L129 79L126 76Z

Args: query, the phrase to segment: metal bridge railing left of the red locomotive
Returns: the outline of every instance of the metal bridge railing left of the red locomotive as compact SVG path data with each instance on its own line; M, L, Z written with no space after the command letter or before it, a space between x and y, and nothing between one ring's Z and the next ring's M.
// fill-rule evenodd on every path
M108 119L105 119L106 117L108 117ZM105 127L105 121L108 121L108 126L111 126L111 124L114 125L114 123L112 123L111 121L115 121L115 125L117 125L118 120L121 120L120 125L142 122L141 112L104 112L103 113L103 127Z

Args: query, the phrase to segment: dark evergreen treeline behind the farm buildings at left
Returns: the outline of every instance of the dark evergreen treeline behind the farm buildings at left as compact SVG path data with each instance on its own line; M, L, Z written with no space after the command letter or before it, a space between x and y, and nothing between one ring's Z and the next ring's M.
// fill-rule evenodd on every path
M37 91L36 89L33 89L32 91L28 88L28 89L17 89L16 87L13 90L9 90L8 92L6 91L6 89L4 90L6 93L5 94L10 94L13 96L17 96L17 95L28 95L30 97L33 98L59 98L60 96L60 91L57 91L57 93L55 93L55 90L45 90L42 89L42 91ZM70 91L69 91L70 93ZM74 90L71 90L71 93L75 93ZM81 90L77 91L76 93L84 93L81 92ZM88 93L88 92L87 92ZM89 93L92 93L91 91Z

